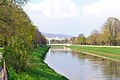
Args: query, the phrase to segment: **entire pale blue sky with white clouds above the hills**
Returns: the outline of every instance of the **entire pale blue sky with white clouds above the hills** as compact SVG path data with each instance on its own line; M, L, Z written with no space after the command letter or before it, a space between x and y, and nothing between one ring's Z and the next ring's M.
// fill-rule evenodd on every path
M120 19L120 0L30 0L24 10L41 32L88 36L108 17Z

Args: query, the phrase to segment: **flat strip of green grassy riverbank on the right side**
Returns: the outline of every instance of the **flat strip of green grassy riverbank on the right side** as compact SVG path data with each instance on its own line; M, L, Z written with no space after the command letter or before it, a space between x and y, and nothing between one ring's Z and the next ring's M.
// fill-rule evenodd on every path
M120 48L96 46L69 46L69 48L79 52L87 52L96 56L102 56L120 61Z

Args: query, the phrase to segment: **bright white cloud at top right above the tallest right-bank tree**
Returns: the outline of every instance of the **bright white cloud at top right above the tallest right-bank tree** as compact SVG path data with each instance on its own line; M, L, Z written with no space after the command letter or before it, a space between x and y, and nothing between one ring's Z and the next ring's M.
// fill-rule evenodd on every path
M84 14L92 14L97 17L119 17L120 16L120 0L100 0L85 5L82 9Z

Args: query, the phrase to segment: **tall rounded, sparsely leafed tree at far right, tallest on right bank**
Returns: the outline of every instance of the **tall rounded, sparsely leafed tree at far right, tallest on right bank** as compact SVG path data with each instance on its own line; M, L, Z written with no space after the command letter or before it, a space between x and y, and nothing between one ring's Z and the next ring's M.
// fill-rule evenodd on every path
M109 17L103 25L102 32L108 37L109 45L116 45L116 38L120 32L120 21L117 18Z

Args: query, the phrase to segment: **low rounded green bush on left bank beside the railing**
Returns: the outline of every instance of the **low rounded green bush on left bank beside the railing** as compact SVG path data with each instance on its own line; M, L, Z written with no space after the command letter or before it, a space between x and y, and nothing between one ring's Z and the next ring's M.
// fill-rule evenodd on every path
M6 59L7 68L9 69L10 67L13 67L17 72L22 71L25 67L27 67L27 54L27 50L25 50L25 48L21 48L21 46L5 47L3 56Z

